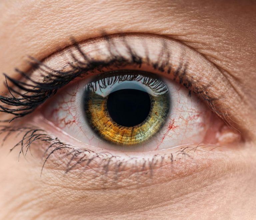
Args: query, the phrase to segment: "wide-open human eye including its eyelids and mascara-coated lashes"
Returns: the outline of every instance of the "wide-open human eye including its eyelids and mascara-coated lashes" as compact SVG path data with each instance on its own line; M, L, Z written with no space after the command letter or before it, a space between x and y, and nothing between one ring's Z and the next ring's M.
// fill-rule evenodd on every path
M23 81L6 76L10 94L1 97L2 111L20 127L2 132L6 139L21 136L14 148L41 155L43 167L54 168L52 161L64 173L133 168L130 175L134 169L153 175L177 161L197 166L210 151L215 156L218 148L241 141L214 93L214 83L223 83L218 69L171 38L74 41L32 66L20 72Z

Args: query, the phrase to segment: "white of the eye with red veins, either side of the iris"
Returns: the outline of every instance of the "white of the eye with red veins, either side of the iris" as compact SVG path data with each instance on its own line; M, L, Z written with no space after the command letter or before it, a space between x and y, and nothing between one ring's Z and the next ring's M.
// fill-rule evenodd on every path
M62 129L70 136L81 143L89 144L98 148L118 151L152 151L169 149L178 145L201 143L210 125L210 111L206 111L206 106L198 102L196 96L188 96L188 91L173 81L165 80L170 94L170 111L166 118L166 123L161 130L148 142L140 146L129 148L117 147L106 143L98 137L88 124L84 114L84 85L88 79L70 86L67 92L56 96L58 102L53 103L49 110L45 111L45 117ZM143 84L133 85L146 88ZM139 83L139 82L138 82ZM124 85L131 83L125 83ZM121 88L123 84L120 85ZM138 88L136 87L136 88ZM117 88L118 89L118 88ZM150 89L150 88L149 88ZM113 91L113 90L112 90ZM173 128L173 129L172 129ZM69 143L68 140L65 142ZM71 143L72 144L72 143Z

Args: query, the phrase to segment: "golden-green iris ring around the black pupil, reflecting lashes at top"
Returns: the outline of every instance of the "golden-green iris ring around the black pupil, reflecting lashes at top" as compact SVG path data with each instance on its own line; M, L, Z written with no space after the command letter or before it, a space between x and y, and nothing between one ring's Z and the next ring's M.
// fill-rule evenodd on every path
M150 110L146 119L131 127L114 121L107 107L108 97L112 91L129 86L138 92L143 89L150 97ZM122 101L125 102L125 98ZM161 129L169 112L169 103L167 86L153 74L141 71L115 71L104 74L104 77L98 77L88 84L84 109L89 124L100 137L118 145L135 145L148 140ZM137 111L143 111L143 108Z

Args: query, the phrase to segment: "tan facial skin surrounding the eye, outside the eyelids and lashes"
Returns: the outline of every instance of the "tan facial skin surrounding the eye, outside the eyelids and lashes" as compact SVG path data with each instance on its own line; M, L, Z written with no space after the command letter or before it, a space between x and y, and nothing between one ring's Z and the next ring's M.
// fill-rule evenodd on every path
M217 105L228 111L243 140L232 151L210 152L214 157L193 154L193 169L179 168L184 158L152 176L127 169L115 179L114 170L105 175L99 167L65 173L55 157L40 176L36 154L43 150L33 148L33 156L21 155L18 162L20 148L9 153L20 140L13 136L1 147L0 219L256 218L255 11L256 2L249 0L0 0L0 73L19 79L14 69L29 70L28 55L43 60L71 45L71 36L77 42L103 31L168 37L219 71ZM205 81L212 77L205 71ZM0 91L7 92L4 83ZM0 118L10 116L1 112Z

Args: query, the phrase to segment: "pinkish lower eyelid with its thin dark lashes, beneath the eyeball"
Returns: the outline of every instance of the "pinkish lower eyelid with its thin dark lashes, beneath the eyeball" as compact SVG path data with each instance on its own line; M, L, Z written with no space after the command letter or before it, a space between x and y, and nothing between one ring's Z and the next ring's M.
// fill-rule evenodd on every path
M214 167L214 164L220 166L225 162L226 166L230 158L237 156L228 149L224 151L224 148L219 146L218 150L216 146L212 145L187 145L147 153L106 152L105 150L93 152L91 149L76 148L63 144L54 138L51 140L51 135L36 127L28 126L20 129L11 127L7 129L6 127L5 132L8 134L9 131L15 131L16 137L18 137L17 133L23 138L26 135L23 140L24 154L31 151L33 156L42 158L44 155L43 161L47 159L42 175L47 175L48 169L55 170L57 168L61 169L63 175L66 176L76 174L79 179L83 175L87 177L89 175L94 180L99 178L100 182L97 182L97 187L102 187L101 183L105 182L106 184L109 178L112 179L108 181L111 182L110 186L117 187L122 179L130 178L131 175L136 176L138 183L140 178L154 179L155 176L159 175L164 175L162 181L171 181L177 177L181 178L199 171L202 172L202 170ZM46 139L48 141L43 141ZM38 143L41 145L40 148ZM56 144L51 145L52 143ZM48 149L49 146L52 147ZM158 177L158 181L160 179ZM113 181L116 181L115 184L113 184ZM142 184L147 185L149 183L142 182Z

